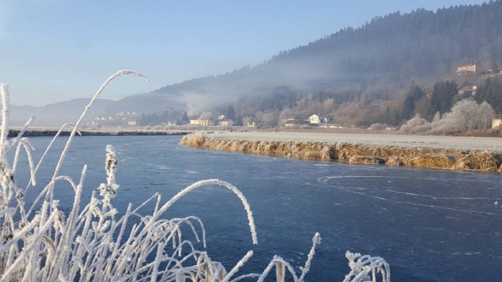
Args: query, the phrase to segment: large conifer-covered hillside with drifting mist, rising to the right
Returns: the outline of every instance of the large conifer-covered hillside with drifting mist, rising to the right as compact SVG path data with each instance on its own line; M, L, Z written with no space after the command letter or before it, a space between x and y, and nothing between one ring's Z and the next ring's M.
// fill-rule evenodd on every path
M301 93L327 89L335 103L360 95L393 97L412 81L428 84L453 78L458 66L474 61L481 70L502 66L501 19L502 1L375 17L359 28L345 28L280 52L252 68L124 98L113 110L153 112L174 101L194 111L210 110L239 97L241 103L260 104L249 106L262 111L269 106L281 110ZM289 101L270 101L273 97Z

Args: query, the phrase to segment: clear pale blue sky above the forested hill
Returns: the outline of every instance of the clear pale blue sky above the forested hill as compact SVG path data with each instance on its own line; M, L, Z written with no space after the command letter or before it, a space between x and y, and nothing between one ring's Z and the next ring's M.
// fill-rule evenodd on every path
M0 0L0 81L15 105L90 97L119 69L119 99L256 65L374 16L481 0L24 1Z

